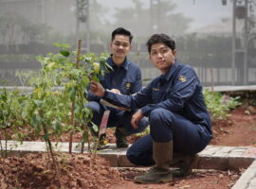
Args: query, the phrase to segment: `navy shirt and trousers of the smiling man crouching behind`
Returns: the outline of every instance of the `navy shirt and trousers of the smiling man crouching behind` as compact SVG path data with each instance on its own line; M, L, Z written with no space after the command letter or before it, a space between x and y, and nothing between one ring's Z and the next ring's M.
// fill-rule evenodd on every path
M100 78L101 85L105 89L118 89L121 94L135 94L141 90L141 71L136 63L125 58L124 62L120 66L117 66L113 62L112 56L110 56L106 61L110 66L112 66L113 71L110 70ZM136 111L119 111L117 109L101 105L101 97L96 96L91 92L88 92L87 99L89 102L86 104L86 107L91 108L93 112L92 121L98 126L100 126L101 117L103 112L106 110L110 110L107 127L119 127L123 134L127 136L141 132L148 126L146 118L142 120L141 124L139 124L138 129L134 129L131 126L131 118Z

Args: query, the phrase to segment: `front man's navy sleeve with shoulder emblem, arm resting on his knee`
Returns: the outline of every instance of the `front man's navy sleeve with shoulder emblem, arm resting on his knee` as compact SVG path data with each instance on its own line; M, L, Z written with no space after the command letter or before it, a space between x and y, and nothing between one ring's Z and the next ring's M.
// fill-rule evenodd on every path
M198 77L191 67L181 70L174 78L174 84L170 83L167 89L167 98L157 104L149 104L141 109L148 116L156 108L164 108L171 112L178 112L184 108L187 100L194 94L198 85Z

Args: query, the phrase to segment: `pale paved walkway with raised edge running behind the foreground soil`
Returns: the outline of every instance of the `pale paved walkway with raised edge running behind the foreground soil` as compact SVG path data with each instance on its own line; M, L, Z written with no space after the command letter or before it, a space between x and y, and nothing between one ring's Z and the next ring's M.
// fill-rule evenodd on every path
M1 142L2 146L4 146L4 141ZM23 145L20 145L17 142L9 141L8 149L11 149L11 153L41 152L46 151L46 143L24 142ZM58 143L55 149L61 152L68 152L68 143ZM84 153L87 153L86 144L84 150ZM72 151L74 153L80 153L80 144L73 143ZM126 148L116 148L115 145L109 145L108 148L100 150L98 154L107 159L112 166L135 166L127 160L125 153ZM199 153L199 161L193 168L218 170L246 168L246 172L237 180L231 189L255 189L256 147L208 146Z

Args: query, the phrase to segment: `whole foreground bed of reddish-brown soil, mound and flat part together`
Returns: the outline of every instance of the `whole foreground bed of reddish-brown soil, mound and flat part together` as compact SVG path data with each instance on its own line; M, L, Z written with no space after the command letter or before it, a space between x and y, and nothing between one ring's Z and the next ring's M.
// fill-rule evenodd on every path
M61 154L60 154L61 155ZM99 157L92 159L81 154L62 154L59 159L61 184L64 189L228 189L242 171L193 170L186 178L171 183L137 184L134 177L148 168L111 168ZM0 159L0 188L59 189L56 172L46 154L27 154L22 158Z

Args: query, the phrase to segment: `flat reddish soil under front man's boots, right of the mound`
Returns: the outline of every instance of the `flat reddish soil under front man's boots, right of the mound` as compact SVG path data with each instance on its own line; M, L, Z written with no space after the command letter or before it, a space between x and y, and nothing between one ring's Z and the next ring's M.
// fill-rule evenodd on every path
M241 176L241 171L218 171L218 170L193 170L192 174L186 178L176 179L171 183L161 184L138 184L134 177L143 174L145 170L138 168L119 169L120 174L125 180L122 185L115 189L228 189Z

